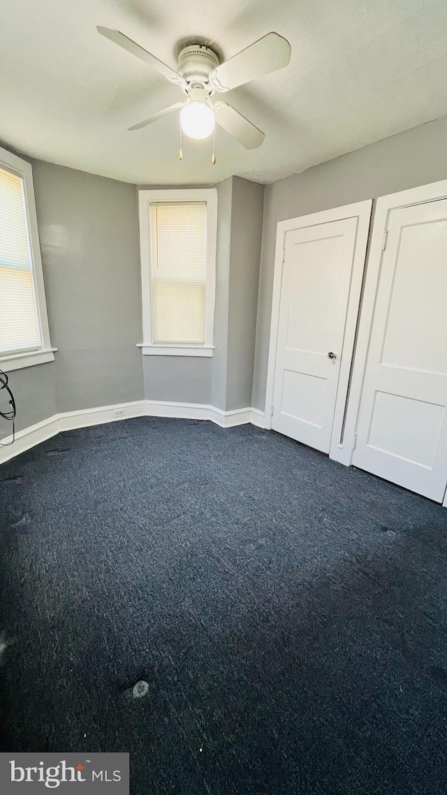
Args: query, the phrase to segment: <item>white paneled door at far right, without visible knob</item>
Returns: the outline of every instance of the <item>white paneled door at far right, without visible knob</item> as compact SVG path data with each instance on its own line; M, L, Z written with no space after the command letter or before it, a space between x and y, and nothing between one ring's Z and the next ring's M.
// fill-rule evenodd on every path
M441 502L447 483L447 200L391 210L386 239L352 463Z

